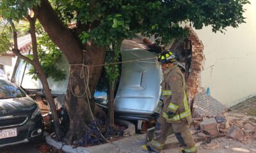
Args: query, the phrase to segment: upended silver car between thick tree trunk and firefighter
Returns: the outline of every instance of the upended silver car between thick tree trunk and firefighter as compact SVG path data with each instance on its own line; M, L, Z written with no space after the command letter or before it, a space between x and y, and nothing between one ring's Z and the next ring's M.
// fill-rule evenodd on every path
M161 111L162 70L154 57L156 54L147 50L122 50L124 63L122 63L120 82L115 95L115 112L118 117L148 120L157 117ZM136 61L138 59L145 60ZM99 84L104 84L103 76ZM100 92L96 89L94 95L97 104L105 108L108 103L107 93L108 91Z

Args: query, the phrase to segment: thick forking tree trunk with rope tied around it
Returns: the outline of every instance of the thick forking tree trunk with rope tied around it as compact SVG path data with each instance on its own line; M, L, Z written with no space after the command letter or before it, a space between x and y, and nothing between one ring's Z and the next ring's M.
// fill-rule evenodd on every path
M40 6L35 8L35 11L38 12L40 24L42 24L54 44L63 52L69 64L83 64L83 58L85 61L84 64L88 66L103 64L106 49L99 48L89 41L86 45L86 51L83 52L81 43L76 39L76 34L72 34L68 27L61 22L49 1L42 0ZM92 121L86 95L81 97L74 96L74 94L77 96L83 94L85 90L84 79L80 78L81 68L80 65L72 66L70 69L70 82L65 101L70 126L64 142L68 144L74 140L79 140L86 130L88 130L87 124ZM97 87L101 71L102 66L90 67L89 89L92 97ZM72 91L74 91L74 94L72 94ZM92 110L94 110L94 103L92 102L90 105Z

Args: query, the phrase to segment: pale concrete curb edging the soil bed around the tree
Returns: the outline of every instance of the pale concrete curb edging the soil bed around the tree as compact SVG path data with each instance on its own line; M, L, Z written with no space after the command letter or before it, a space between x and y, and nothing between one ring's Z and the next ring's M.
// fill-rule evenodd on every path
M135 125L134 124L132 124L131 122L129 122L127 120L122 120L122 119L116 119L116 122L128 127L127 129L124 130L124 136L135 135ZM55 147L56 149L63 150L63 152L67 152L67 153L90 153L89 150L92 150L92 152L93 152L93 148L95 148L95 146L94 147L72 147L72 145L65 145L65 143L62 143L62 142L56 142L56 140L51 138L51 135L45 136L45 141L47 144ZM115 143L115 142L113 142L113 143ZM104 143L102 145L97 145L97 147L113 148L113 144Z

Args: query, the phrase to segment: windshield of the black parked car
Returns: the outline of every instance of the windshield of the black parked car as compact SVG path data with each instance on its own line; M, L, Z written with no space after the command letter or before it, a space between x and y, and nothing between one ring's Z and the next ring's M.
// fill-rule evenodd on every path
M26 97L26 94L16 87L15 84L9 81L0 80L0 99L22 97Z

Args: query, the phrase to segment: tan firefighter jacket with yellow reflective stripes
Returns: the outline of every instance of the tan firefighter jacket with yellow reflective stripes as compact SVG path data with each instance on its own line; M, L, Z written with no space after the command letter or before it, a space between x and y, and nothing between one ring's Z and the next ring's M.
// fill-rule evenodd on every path
M161 83L164 108L163 117L166 122L179 123L181 120L192 122L191 112L186 96L186 84L184 75L177 66L172 66L163 70L163 82ZM168 117L167 112L175 113L173 117Z

